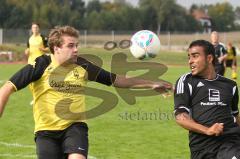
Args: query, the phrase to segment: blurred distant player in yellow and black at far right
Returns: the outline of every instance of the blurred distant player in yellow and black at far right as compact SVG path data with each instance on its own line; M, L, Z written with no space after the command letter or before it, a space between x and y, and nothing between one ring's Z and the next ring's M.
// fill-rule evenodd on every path
M226 68L230 67L232 70L232 79L237 79L237 57L236 57L236 48L232 45L231 42L227 45L227 59L226 59Z

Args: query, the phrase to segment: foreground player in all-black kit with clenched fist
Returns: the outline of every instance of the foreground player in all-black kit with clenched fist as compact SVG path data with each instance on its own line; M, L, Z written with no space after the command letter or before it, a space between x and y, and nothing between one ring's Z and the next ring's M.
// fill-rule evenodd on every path
M192 159L240 158L240 118L236 82L218 75L214 46L193 41L188 49L190 73L175 85L176 122L189 130Z

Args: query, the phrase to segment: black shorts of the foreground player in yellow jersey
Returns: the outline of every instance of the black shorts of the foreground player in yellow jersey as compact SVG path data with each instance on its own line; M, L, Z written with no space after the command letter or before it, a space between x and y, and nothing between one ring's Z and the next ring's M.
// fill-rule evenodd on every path
M71 153L82 154L87 158L88 126L79 122L65 130L38 131L35 142L38 159L67 159Z

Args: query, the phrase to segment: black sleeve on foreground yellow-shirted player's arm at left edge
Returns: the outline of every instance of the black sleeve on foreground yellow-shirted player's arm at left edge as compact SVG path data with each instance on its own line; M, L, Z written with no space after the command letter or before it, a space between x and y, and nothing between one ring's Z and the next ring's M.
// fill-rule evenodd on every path
M50 64L50 57L43 55L35 60L35 64L28 64L17 73L15 73L10 79L16 90L25 88L33 81L37 81L41 78L47 66Z

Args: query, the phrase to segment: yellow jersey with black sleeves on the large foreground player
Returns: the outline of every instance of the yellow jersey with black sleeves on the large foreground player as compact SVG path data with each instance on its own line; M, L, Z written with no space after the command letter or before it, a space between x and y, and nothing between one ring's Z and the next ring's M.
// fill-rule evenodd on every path
M75 64L59 65L53 55L42 55L35 64L28 64L13 75L9 82L16 91L32 85L35 132L40 130L63 130L74 122L69 112L85 110L84 87L86 82L96 81L111 85L116 75L78 57Z

